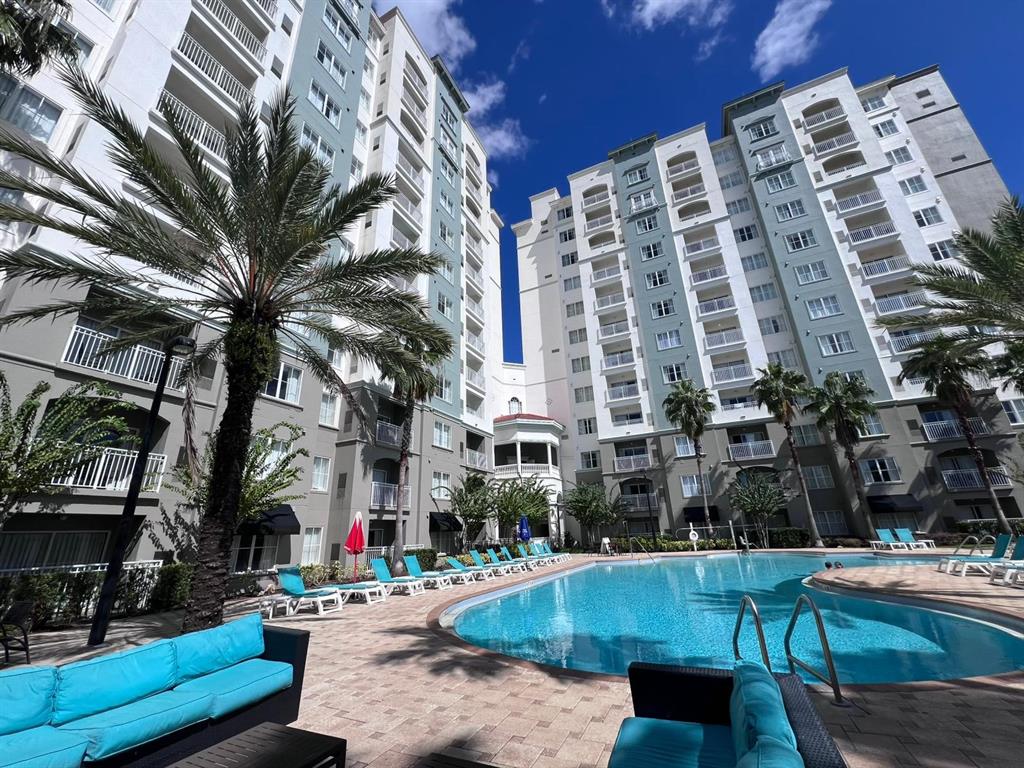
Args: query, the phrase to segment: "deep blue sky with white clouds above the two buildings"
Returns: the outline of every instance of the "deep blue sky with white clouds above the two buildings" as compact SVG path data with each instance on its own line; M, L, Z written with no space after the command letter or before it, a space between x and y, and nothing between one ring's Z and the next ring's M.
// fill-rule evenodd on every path
M857 84L938 63L1012 193L1024 194L1019 0L375 0L399 5L473 105L505 220L505 358L521 360L515 238L529 196L647 133L707 123L776 80Z

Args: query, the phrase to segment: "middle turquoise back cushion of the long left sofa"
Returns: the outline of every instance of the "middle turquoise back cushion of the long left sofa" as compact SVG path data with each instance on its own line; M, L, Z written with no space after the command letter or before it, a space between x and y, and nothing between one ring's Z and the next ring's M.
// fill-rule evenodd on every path
M168 690L176 682L175 674L170 640L65 665L57 669L50 722L63 725Z

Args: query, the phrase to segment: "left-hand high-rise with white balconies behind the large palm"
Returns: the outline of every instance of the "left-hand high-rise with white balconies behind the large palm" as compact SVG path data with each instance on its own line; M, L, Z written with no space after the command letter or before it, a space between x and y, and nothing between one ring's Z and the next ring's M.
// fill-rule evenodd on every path
M493 472L498 410L490 398L502 365L502 221L490 208L487 159L468 121L469 106L443 62L423 50L399 12L378 16L369 3L355 0L76 0L73 6L61 24L78 36L83 68L160 151L172 152L158 111L169 102L185 116L185 128L211 167L224 174L223 127L239 104L254 99L265 114L265 103L287 86L296 98L302 141L332 168L336 183L344 187L369 172L383 172L393 174L399 188L392 204L349 232L339 255L415 245L449 260L439 274L421 276L415 286L432 317L451 331L456 352L438 371L437 392L416 409L409 487L397 486L404 414L390 384L357 359L332 358L364 407L369 426L362 427L286 350L279 375L257 403L255 427L282 421L302 427L305 435L295 447L308 457L293 488L302 498L292 503L294 516L240 530L233 567L338 559L356 511L368 522L371 545L390 544L399 494L406 542L451 546L458 523L445 514L449 486L469 469ZM108 136L79 113L52 72L26 81L0 75L0 121L132 194L105 155ZM44 254L78 249L62 236L12 225L0 227L0 241L5 248ZM0 312L67 294L66 288L8 281L0 286ZM98 355L119 332L103 317L85 316L0 332L0 366L15 400L40 380L52 385L49 396L55 396L84 379L99 379L140 407L130 421L141 429L160 352L140 345ZM210 333L202 328L200 342ZM219 421L223 389L220 365L203 371L196 423L204 433ZM167 480L184 457L182 401L182 392L168 389L139 504L140 525L156 523L160 506L171 511L178 501ZM287 446L278 441L273 449ZM39 514L30 505L12 517L0 534L0 568L105 559L134 456L128 444L111 447L75 477L62 478L72 492L59 499L60 515ZM169 547L153 524L133 557L146 559Z

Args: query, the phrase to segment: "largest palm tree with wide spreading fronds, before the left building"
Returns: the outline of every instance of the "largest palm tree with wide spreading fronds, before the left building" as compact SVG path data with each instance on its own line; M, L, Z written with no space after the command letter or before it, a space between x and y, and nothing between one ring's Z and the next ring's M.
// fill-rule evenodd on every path
M183 378L194 379L201 365L219 357L227 394L211 468L217 487L201 521L184 629L215 626L223 616L253 408L282 351L287 347L361 419L325 352L348 353L381 370L418 365L400 339L450 353L451 337L427 318L425 302L392 285L433 273L442 260L417 249L331 257L343 233L396 188L377 174L347 191L333 184L329 169L300 144L287 93L269 105L265 129L254 102L240 108L226 131L225 180L169 102L160 111L176 145L173 159L150 145L80 71L67 70L61 79L84 114L111 134L110 155L124 181L100 184L38 143L0 131L0 151L34 167L25 177L0 171L0 186L49 204L42 212L0 205L0 219L52 229L84 246L71 254L0 253L0 272L86 293L8 313L0 326L88 313L130 329L119 338L121 347L194 333L202 322L209 338ZM42 178L47 182L35 180ZM131 197L117 191L126 187L135 189Z

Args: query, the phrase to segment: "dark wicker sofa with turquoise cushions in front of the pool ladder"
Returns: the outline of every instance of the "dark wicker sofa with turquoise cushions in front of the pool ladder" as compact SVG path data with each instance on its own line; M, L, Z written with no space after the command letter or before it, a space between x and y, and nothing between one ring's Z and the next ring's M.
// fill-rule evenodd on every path
M608 768L846 768L797 675L630 665L635 717Z

